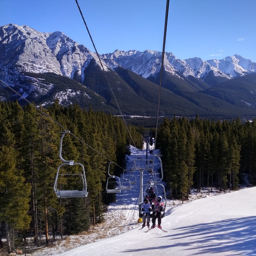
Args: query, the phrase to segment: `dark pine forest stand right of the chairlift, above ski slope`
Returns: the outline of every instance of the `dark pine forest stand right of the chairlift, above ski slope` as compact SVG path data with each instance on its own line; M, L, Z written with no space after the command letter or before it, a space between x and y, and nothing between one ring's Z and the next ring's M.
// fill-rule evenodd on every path
M192 186L198 191L217 187L236 190L249 177L256 181L256 120L167 118L158 132L164 177L173 195L187 195Z

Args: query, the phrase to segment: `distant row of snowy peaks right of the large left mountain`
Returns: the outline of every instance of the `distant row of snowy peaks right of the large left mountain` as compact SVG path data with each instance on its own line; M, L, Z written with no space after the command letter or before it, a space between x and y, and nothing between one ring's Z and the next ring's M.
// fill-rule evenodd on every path
M140 51L120 51L104 54L104 60L109 66L119 64L123 68L127 68L144 78L156 76L161 68L162 52L145 50ZM112 64L112 66L110 65ZM115 64L114 64L115 63ZM180 77L194 76L195 78L204 78L213 72L214 76L220 76L228 79L243 76L256 72L256 63L246 60L239 55L226 57L222 60L202 60L200 58L190 58L180 60L170 52L166 52L164 56L164 68L170 74Z

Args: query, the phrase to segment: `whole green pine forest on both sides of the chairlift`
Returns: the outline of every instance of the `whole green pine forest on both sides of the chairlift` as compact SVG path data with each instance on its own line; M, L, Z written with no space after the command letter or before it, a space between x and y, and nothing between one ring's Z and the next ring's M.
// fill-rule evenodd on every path
M104 222L106 206L115 200L106 193L108 164L116 163L112 174L122 173L129 145L142 145L148 130L128 126L128 131L122 118L76 104L63 107L58 100L41 109L56 122L31 104L0 102L0 247L8 252L25 246L28 236L35 245L43 240L48 246L49 234L55 241L57 235L79 234ZM62 156L84 166L87 197L58 198L53 190L62 163L58 124L75 135L65 135ZM164 118L157 136L169 196L184 200L192 187L236 190L246 175L255 183L256 120Z

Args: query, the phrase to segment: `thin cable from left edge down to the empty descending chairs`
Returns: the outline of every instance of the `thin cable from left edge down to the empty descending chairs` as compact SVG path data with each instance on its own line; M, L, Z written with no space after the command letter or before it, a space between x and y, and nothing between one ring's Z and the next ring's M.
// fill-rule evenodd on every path
M55 124L57 124L58 126L60 126L62 129L64 129L65 131L67 131L68 129L65 128L64 126L62 126L61 124L59 124L56 120L54 120L52 117L50 117L48 114L46 114L44 111L42 111L40 108L38 108L37 106L35 106L33 103L31 103L29 100L27 100L26 98L24 98L21 94L19 94L18 92L16 92L11 86L9 86L8 84L6 84L5 82L3 82L0 79L0 82L2 82L6 87L8 87L10 90L12 90L15 94L17 94L18 96L20 96L22 99L24 99L26 102L28 102L30 105L32 105L34 108L36 108L39 112L41 112L41 114L43 114L44 116L48 117L50 120L52 120L52 122L54 122ZM86 146L88 146L90 149L94 150L97 154L99 154L100 156L104 157L106 160L112 162L111 160L109 160L106 156L104 156L103 154L101 154L100 152L98 152L96 149L92 148L90 145L88 145L86 142L84 142L83 140L81 140L80 138L78 138L76 135L74 135L72 132L70 132L70 135L74 136L74 138L76 138L77 140L79 140L80 142L82 142L83 144L85 144ZM116 166L124 169L122 166L119 166L118 164L114 163Z

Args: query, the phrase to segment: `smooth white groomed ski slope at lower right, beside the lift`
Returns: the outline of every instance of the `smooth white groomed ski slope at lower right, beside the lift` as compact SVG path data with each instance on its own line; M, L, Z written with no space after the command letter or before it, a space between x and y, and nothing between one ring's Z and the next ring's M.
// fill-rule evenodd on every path
M66 251L62 256L94 255L256 255L256 188L195 200L165 216L162 226Z

